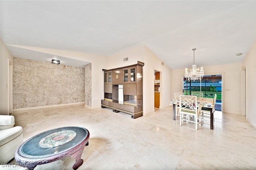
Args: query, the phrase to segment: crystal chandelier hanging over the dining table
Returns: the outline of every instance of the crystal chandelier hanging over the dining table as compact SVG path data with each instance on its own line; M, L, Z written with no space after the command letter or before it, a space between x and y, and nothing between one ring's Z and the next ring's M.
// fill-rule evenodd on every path
M192 68L190 69L190 72L188 72L188 68L186 68L185 71L185 77L187 80L201 80L204 76L204 70L203 67L201 67L201 70L199 71L199 68L196 69L196 64L195 64L195 50L194 51L194 64L192 65Z

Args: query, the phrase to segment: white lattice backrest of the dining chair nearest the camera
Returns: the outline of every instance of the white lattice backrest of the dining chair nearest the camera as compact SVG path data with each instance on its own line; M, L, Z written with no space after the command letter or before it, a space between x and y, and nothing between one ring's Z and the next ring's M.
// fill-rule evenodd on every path
M180 113L198 113L197 96L180 95Z

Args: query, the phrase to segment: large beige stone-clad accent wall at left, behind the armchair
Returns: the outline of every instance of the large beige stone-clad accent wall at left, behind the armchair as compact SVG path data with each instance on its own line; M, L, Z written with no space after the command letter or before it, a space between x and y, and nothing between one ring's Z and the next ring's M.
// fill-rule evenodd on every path
M13 108L84 102L85 69L13 58Z

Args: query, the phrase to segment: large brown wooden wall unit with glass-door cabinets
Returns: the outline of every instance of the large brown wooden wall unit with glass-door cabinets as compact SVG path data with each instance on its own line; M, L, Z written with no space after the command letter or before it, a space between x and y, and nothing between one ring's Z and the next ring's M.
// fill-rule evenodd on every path
M144 63L138 61L134 65L103 70L104 100L101 102L102 108L108 107L116 113L121 111L130 114L134 119L143 115L142 66ZM110 72L111 83L108 74Z

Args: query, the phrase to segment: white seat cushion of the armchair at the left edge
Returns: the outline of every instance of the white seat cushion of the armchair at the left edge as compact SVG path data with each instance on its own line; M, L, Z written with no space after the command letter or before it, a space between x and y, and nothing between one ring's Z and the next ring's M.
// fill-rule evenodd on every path
M15 126L10 129L0 131L0 146L12 141L22 133L21 126Z

